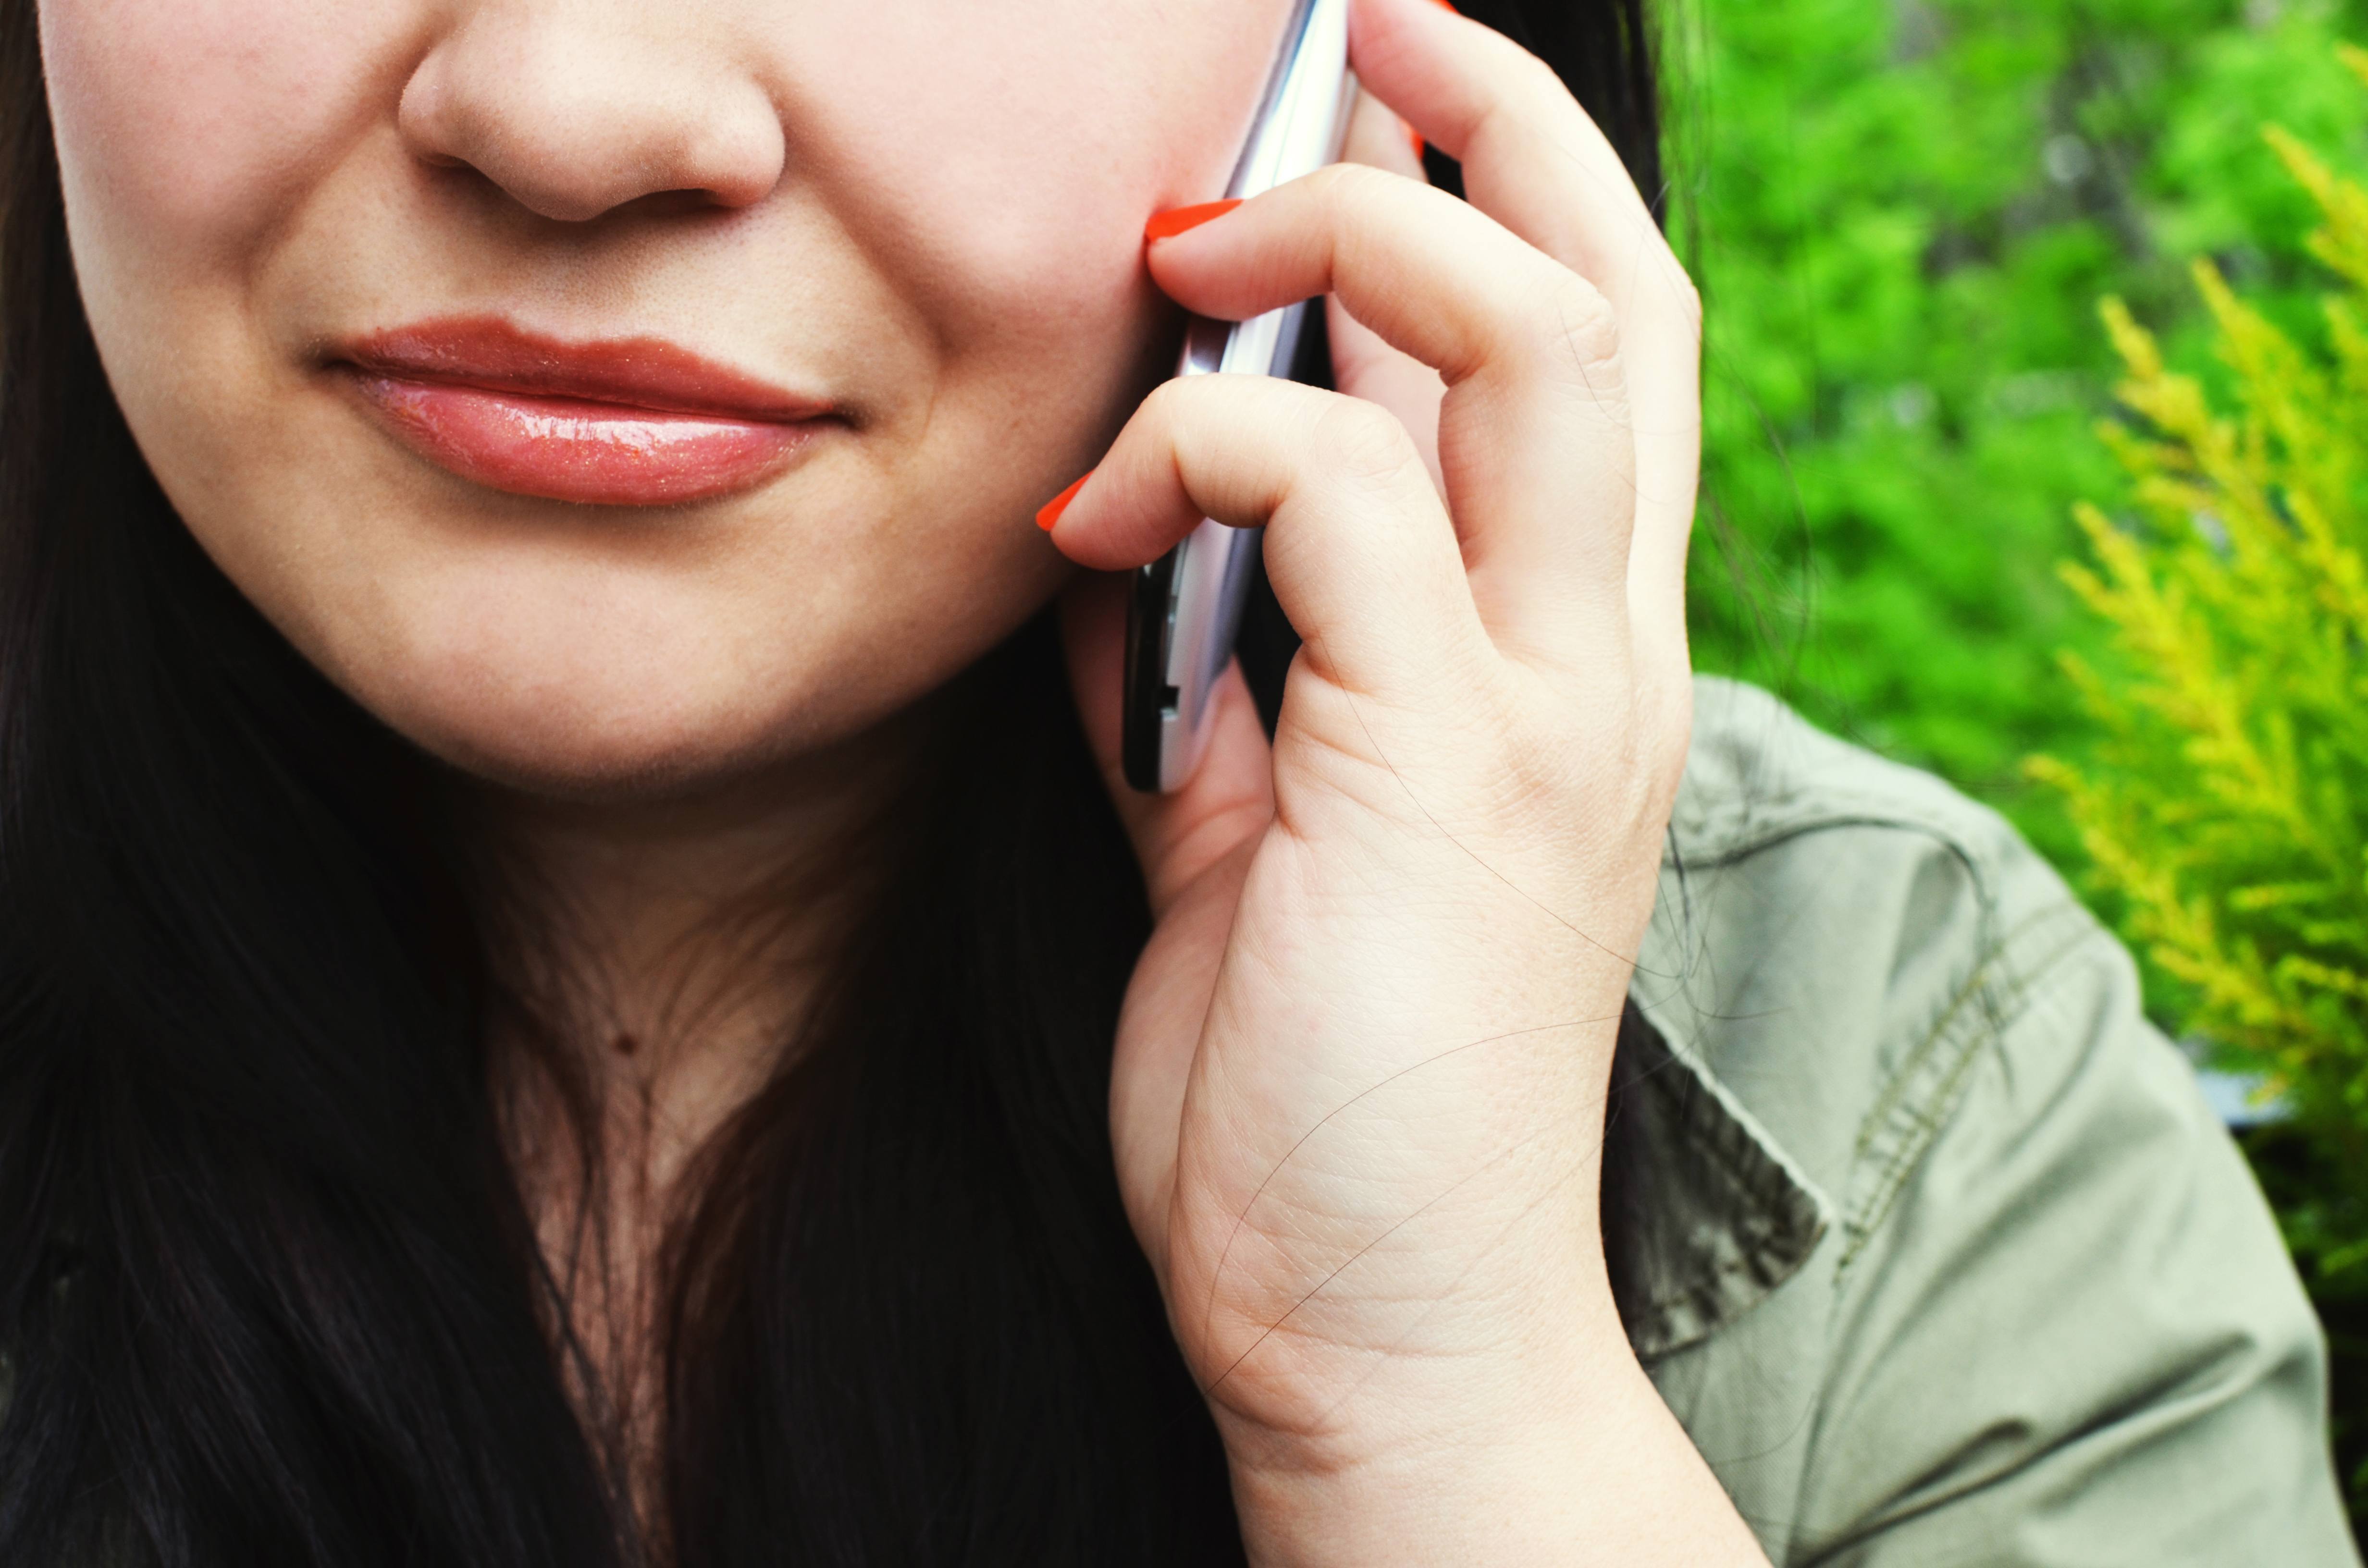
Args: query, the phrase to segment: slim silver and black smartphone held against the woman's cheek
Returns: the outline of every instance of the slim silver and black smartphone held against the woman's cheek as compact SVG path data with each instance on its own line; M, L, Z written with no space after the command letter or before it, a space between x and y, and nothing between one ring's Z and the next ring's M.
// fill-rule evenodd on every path
M1255 197L1338 163L1354 102L1347 0L1298 0L1224 194ZM1191 317L1177 374L1291 374L1310 306L1321 301L1300 301L1248 322ZM1134 789L1177 789L1201 765L1208 699L1234 658L1241 602L1257 571L1257 533L1201 519L1182 545L1134 573L1120 737L1120 760Z

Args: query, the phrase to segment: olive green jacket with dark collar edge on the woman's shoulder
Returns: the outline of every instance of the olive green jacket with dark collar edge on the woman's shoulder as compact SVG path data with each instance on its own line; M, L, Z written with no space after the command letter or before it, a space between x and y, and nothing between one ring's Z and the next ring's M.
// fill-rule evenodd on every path
M2129 957L1989 810L1695 687L1629 1336L1776 1563L2356 1563L2325 1350Z

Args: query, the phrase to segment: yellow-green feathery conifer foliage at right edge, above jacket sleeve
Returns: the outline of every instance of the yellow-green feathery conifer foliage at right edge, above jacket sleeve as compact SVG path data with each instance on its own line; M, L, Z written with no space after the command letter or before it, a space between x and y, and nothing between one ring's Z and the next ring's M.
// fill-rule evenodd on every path
M2368 54L2344 64L2368 81ZM2195 284L2231 391L2105 324L2136 419L2105 426L2136 516L2079 509L2065 580L2117 658L2065 666L2100 722L2058 786L2179 1026L2269 1080L2330 1182L2285 1206L2318 1289L2368 1289L2368 192L2271 128L2340 287L2299 343L2219 270ZM2167 985L2162 983L2167 981Z

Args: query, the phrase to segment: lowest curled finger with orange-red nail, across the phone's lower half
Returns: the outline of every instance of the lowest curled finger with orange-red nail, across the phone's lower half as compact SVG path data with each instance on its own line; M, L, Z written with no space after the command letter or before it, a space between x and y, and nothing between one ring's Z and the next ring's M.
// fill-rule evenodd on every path
M1440 495L1385 410L1272 377L1167 381L1058 514L1054 545L1127 571L1203 516L1267 528L1267 580L1328 680L1414 706L1468 696L1487 632Z

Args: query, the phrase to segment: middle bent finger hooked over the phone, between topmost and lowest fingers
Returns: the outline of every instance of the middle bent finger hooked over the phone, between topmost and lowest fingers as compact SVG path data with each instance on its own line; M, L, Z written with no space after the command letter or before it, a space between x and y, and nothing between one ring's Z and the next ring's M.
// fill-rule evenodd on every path
M1435 367L1440 471L1492 637L1565 666L1627 654L1636 443L1587 279L1447 192L1347 163L1156 242L1148 265L1203 315L1336 294Z

